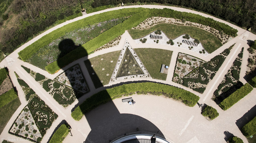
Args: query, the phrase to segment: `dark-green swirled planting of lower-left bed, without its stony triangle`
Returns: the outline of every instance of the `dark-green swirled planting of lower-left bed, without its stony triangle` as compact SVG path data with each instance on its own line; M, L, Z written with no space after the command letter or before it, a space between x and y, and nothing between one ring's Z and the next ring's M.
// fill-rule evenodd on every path
M20 79L17 74L16 76ZM46 131L51 127L53 121L57 119L58 115L54 113L30 87L22 85L21 87L26 96L26 100L28 101L28 108L33 115L34 121L36 122L41 135L44 136ZM39 112L39 114L36 114L37 112ZM41 114L45 114L46 117L42 117ZM38 118L42 119L42 121L38 121Z

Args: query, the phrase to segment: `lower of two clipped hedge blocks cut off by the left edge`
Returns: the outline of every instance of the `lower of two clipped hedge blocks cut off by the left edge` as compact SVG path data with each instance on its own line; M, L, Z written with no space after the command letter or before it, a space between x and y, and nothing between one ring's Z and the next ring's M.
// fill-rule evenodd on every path
M14 88L10 89L9 91L5 92L0 96L0 108L4 105L8 104L9 102L13 101L13 99L17 98L17 92Z

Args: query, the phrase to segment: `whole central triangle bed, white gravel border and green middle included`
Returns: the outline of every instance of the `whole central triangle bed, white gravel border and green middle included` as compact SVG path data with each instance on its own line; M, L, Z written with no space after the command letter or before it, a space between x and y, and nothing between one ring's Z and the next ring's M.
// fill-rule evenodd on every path
M110 83L137 77L152 79L144 64L126 39L112 73Z

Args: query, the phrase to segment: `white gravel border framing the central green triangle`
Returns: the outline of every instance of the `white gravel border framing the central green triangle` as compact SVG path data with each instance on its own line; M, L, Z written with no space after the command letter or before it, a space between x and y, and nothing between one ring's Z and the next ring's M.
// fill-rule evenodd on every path
M133 57L135 58L136 62L141 67L143 67L143 68L141 68L141 70L143 71L144 74L127 75L127 76L123 76L123 77L116 77L117 71L119 70L119 67L121 66L122 59L123 59L123 57L125 55L126 48L128 48L130 50L130 52L133 55ZM115 69L114 69L114 71L112 73L112 76L111 76L111 79L110 79L110 83L113 82L113 81L120 81L120 80L130 79L130 78L148 78L148 79L152 79L152 77L148 73L148 70L145 68L144 64L141 62L140 58L138 57L137 53L133 50L133 48L131 47L131 45L129 44L129 42L126 39L125 43L123 45L123 49L121 50L121 53L120 53L120 55L118 57L116 65L115 65Z

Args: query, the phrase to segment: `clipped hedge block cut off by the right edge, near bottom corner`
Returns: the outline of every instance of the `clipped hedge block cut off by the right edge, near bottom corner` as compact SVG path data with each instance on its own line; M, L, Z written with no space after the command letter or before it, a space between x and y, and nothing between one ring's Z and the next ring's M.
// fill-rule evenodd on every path
M246 137L256 134L256 117L254 117L253 120L243 126L242 133Z

